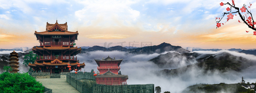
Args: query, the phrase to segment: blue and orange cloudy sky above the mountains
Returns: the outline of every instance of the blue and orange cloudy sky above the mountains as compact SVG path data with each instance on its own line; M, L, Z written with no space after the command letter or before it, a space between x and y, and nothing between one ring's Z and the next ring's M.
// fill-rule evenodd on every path
M78 47L104 42L129 46L135 41L136 47L166 42L205 49L255 48L253 30L239 23L238 16L216 29L215 18L228 7L221 2L231 0L0 0L0 48L38 46L35 30L45 31L46 22L54 24L56 19L68 22L68 31L78 30ZM255 0L235 0L239 8L249 3L256 14Z

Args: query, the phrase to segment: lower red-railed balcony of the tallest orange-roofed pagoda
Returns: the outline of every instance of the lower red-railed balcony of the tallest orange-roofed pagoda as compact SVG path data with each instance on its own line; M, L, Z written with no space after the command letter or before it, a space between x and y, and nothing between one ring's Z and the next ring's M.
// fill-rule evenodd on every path
M77 61L76 56L40 56L36 58L36 61L46 61L46 60L69 60Z

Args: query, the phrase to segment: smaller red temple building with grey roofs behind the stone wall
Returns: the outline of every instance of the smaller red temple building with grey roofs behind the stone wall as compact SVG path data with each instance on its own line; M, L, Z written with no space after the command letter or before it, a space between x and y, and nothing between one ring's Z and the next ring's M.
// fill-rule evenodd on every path
M116 60L110 58L109 56L102 60L96 60L98 64L98 70L100 73L96 75L96 82L97 84L105 84L105 85L126 85L126 80L128 79L128 75L121 75L121 72L118 73L120 70L120 64L123 59Z

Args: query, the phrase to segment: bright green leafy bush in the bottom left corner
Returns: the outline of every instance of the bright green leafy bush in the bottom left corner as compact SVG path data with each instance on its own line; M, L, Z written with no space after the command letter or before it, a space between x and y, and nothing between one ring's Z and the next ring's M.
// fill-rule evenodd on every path
M0 74L0 93L43 93L44 86L28 73Z

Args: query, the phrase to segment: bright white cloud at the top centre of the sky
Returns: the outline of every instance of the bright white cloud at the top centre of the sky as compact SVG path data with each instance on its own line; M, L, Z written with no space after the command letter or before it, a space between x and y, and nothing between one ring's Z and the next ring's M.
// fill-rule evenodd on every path
M84 4L82 10L75 12L76 17L79 20L101 19L100 23L118 24L116 19L119 21L128 20L129 22L136 21L140 16L140 11L134 10L130 7L134 1L81 1L78 2Z

